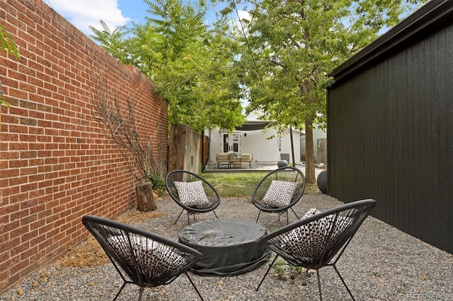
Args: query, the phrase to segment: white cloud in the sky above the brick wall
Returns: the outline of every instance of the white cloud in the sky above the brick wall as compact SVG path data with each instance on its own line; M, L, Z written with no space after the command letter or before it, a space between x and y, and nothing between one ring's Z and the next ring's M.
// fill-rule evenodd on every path
M46 0L57 13L64 16L86 35L93 32L88 26L103 30L99 20L103 20L110 30L125 25L129 18L122 16L117 0Z

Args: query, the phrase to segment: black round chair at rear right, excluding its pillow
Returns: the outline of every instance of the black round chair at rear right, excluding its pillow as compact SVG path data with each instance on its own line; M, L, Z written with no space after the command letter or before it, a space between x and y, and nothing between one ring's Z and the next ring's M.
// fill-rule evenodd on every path
M273 184L273 180L295 183L295 189L292 193L292 196L289 196L289 201L282 206L274 206L273 203L270 203L265 199L265 196L268 194L269 187L271 187L271 184ZM286 213L286 222L289 223L288 209L291 209L297 219L299 219L299 216L297 216L297 213L294 212L292 206L294 206L299 201L299 199L304 194L304 190L304 174L296 167L281 167L277 168L277 170L269 172L268 175L265 175L265 177L263 177L263 179L261 179L260 182L256 185L255 190L252 194L253 205L255 205L256 208L260 210L258 212L258 217L256 218L256 223L258 223L258 218L260 218L261 211L268 213L279 213L279 220L280 214Z

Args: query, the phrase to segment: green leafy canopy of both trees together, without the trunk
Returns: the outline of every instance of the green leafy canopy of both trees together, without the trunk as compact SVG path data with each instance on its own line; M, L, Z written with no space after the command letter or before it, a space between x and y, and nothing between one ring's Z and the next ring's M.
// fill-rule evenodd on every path
M210 27L205 1L144 2L147 23L110 32L101 21L103 30L92 28L92 37L154 81L169 122L202 131L243 124L245 99L248 111L263 110L282 127L303 129L306 120L322 126L328 74L417 1L262 0L235 30L232 1Z

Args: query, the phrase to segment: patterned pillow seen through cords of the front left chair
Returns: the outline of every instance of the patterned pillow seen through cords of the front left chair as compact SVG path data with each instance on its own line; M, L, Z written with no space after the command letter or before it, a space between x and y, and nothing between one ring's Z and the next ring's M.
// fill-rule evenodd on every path
M129 239L125 235L109 237L111 244L115 245L125 255L128 264L133 264L130 258ZM147 240L140 237L138 240L131 240L132 252L137 259L139 266L146 266L148 271L169 271L173 266L185 264L185 259L180 254L169 252L170 247L154 240Z

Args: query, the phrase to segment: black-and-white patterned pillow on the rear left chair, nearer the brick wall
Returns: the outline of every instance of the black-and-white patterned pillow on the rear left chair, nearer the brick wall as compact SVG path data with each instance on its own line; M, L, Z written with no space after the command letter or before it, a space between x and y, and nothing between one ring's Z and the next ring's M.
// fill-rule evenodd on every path
M199 209L209 206L210 200L207 199L201 181L175 182L175 186L178 190L179 201L185 206Z

